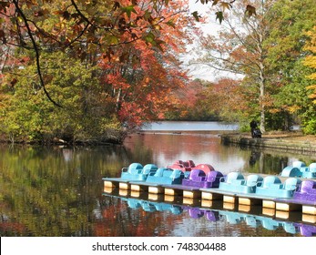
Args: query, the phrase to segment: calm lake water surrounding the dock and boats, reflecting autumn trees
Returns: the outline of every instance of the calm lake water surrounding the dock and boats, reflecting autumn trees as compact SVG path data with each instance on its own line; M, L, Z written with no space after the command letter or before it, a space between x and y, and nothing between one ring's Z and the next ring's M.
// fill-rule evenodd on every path
M165 167L178 160L209 163L223 173L279 174L315 156L221 144L206 133L147 133L123 146L42 148L0 146L0 236L309 236L315 217L284 217L262 208L220 202L166 200L148 193L104 190L103 177L118 177L132 162Z

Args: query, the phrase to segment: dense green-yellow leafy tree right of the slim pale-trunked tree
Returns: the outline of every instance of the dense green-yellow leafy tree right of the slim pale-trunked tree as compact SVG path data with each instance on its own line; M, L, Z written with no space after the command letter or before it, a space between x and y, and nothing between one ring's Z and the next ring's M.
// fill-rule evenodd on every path
M312 85L311 68L304 66L307 52L306 34L315 26L316 5L313 0L276 1L269 12L270 31L265 41L270 87L273 87L270 122L280 125L297 117L302 129L315 119L315 106L306 87Z

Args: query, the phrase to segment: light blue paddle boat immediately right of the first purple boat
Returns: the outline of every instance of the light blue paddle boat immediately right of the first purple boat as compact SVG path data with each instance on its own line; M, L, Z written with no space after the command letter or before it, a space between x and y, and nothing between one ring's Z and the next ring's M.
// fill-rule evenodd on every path
M257 174L251 174L245 179L239 172L231 172L226 179L220 179L219 189L236 193L254 193L262 180L263 178Z

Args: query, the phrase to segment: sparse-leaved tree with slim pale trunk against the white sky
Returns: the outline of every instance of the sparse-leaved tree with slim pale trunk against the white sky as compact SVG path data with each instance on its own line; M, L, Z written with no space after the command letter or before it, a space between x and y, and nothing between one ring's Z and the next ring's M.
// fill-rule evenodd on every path
M266 13L273 1L250 1L256 8L252 9L253 13L245 14L243 6L246 2L249 1L235 3L233 8L225 5L233 15L224 19L219 35L207 35L201 38L199 57L191 63L197 66L209 66L225 75L229 73L243 77L240 86L247 87L248 94L251 96L247 96L247 102L250 103L249 117L259 116L260 129L265 131L270 97L267 91L266 52L263 44L268 36ZM252 15L254 13L255 16Z

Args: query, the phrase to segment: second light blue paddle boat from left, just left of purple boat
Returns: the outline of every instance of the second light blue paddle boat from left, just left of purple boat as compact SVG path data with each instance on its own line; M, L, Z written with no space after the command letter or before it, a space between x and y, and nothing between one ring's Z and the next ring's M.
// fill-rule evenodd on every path
M157 184L181 184L184 173L179 169L158 168L155 173L149 173L146 182Z

